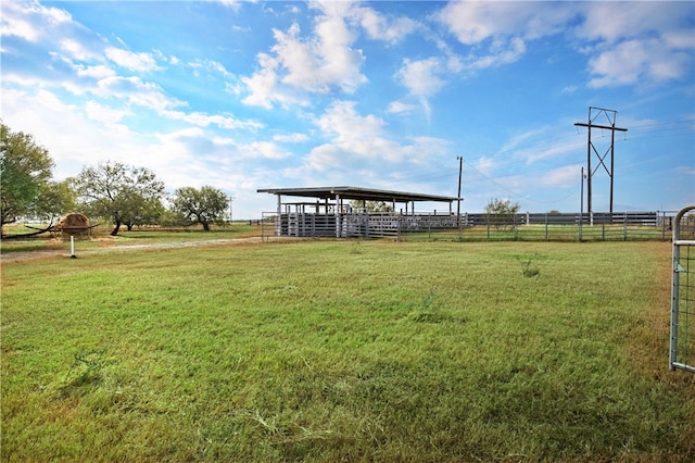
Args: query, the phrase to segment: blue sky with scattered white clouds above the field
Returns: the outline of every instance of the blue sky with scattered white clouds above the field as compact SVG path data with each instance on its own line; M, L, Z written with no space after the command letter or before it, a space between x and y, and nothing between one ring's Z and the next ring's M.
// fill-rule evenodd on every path
M255 218L258 188L455 197L463 157L462 211L576 212L596 107L628 128L614 210L695 201L695 2L11 1L0 25L1 117L58 179L119 161Z

